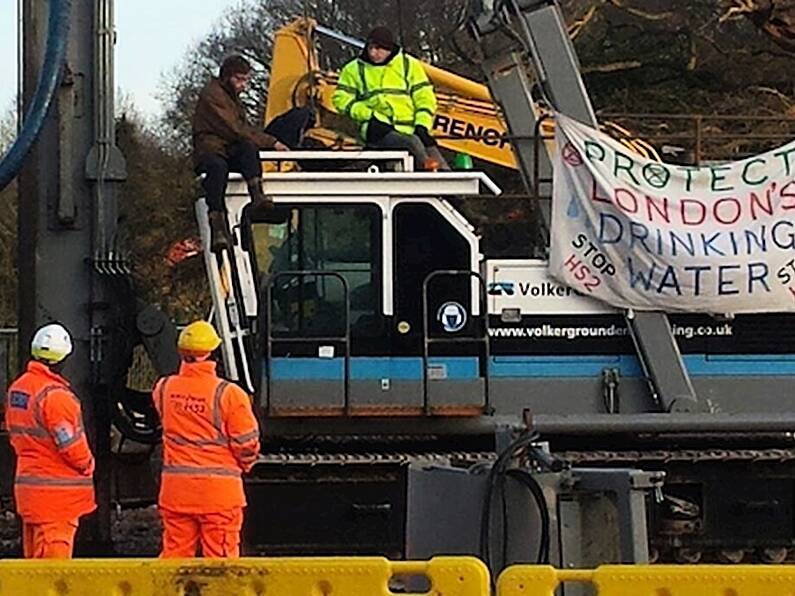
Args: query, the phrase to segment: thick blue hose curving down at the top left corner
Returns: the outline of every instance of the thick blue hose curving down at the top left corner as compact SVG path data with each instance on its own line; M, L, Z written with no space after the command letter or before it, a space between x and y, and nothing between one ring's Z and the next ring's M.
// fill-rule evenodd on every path
M50 0L47 47L44 52L41 74L30 107L25 113L22 130L11 145L11 149L0 160L0 190L3 190L16 178L44 125L44 119L50 109L50 104L52 104L63 70L69 38L71 8L71 0Z

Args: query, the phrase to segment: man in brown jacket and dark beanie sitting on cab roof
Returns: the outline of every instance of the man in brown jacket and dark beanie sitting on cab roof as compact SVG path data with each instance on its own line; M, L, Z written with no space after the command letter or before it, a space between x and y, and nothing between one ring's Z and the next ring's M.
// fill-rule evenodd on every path
M288 151L275 137L246 121L239 96L251 79L251 64L239 55L226 58L218 78L202 89L193 115L193 162L203 181L210 218L210 248L228 248L224 196L229 172L238 172L248 185L252 208L273 209L262 192L260 149Z

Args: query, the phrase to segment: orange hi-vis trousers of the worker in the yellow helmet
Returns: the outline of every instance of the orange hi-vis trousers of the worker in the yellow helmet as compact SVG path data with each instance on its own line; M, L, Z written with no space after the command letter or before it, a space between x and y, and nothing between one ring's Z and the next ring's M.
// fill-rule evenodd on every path
M178 513L160 509L163 520L164 559L192 558L201 544L208 559L236 559L240 556L240 530L243 508L216 513Z

